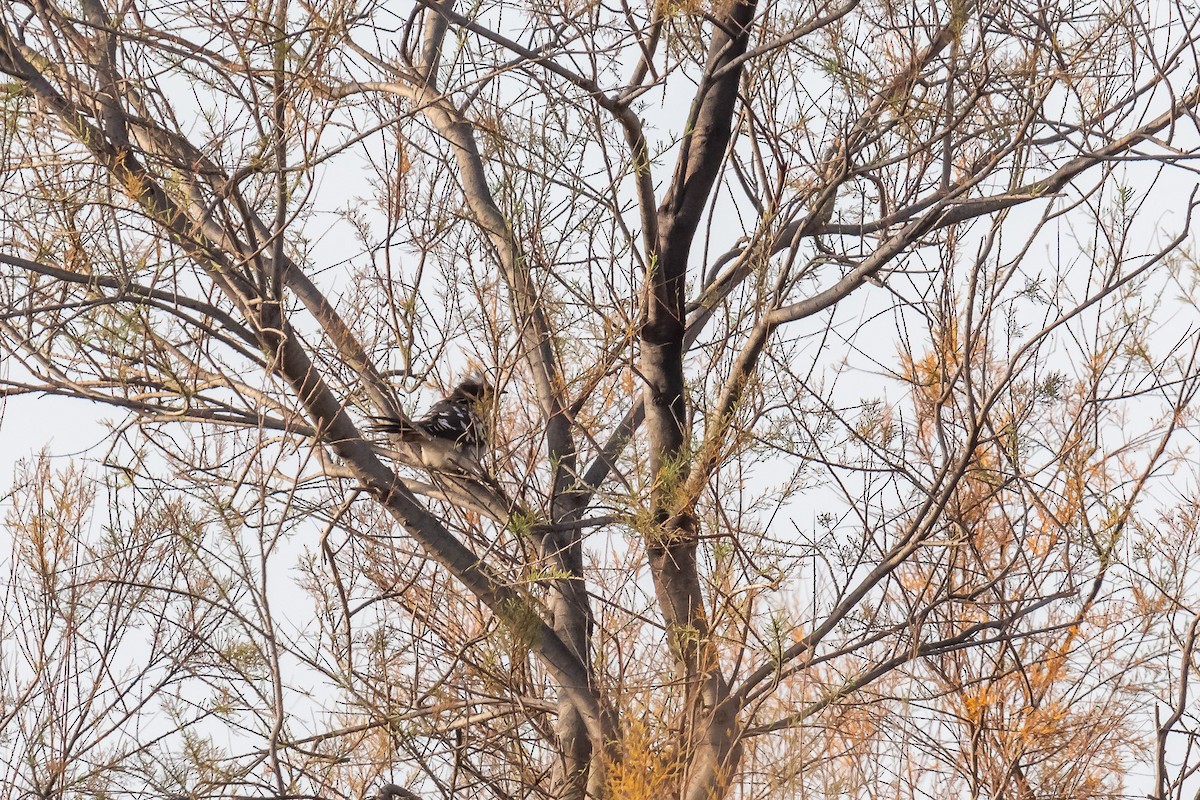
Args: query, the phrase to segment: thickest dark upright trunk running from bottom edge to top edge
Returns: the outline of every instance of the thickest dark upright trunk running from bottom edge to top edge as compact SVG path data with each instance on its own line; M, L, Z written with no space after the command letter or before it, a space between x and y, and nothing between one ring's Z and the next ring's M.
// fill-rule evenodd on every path
M683 378L689 253L732 136L742 78L739 59L746 52L755 7L752 1L732 2L713 23L688 134L658 211L658 241L647 276L641 330L654 519L647 553L686 687L682 796L688 800L724 796L739 758L736 709L718 663L696 567L698 524L690 506L680 507L678 489L686 482L690 461Z

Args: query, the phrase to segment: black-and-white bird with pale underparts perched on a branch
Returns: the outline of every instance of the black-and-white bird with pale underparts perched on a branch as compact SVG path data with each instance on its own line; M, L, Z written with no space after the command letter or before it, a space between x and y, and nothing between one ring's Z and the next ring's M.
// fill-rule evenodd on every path
M481 473L494 399L496 387L482 374L472 373L419 420L376 416L370 429L415 445L431 470Z

